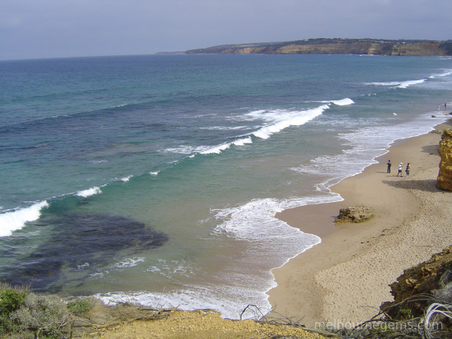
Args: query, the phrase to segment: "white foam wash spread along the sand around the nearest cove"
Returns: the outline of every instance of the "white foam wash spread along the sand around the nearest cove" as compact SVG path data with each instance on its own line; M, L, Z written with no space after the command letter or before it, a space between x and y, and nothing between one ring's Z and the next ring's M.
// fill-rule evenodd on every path
M96 295L105 303L137 302L150 307L178 307L179 309L215 309L223 318L239 319L249 304L254 304L263 314L271 310L266 292L276 286L273 268L283 266L290 258L319 244L320 238L305 234L275 218L275 213L308 203L338 201L337 194L319 194L303 199L256 199L235 208L212 210L215 218L221 220L213 232L214 237L232 237L242 242L251 242L241 259L244 270L237 271L234 262L225 263L225 268L210 277L213 281L206 285L182 285L177 291L153 292L112 292ZM248 267L249 266L249 267ZM147 269L150 273L172 278L174 274L195 274L184 262L159 261ZM216 283L218 279L221 283ZM199 281L199 280L198 280ZM206 280L201 279L205 282ZM242 319L255 319L253 312Z

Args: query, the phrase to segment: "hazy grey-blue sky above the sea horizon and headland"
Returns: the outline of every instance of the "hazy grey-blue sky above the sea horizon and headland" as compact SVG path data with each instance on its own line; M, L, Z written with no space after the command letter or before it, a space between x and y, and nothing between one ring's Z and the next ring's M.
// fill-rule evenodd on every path
M0 60L319 37L451 40L451 0L1 0Z

